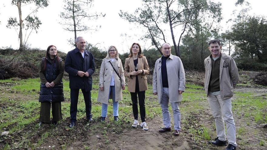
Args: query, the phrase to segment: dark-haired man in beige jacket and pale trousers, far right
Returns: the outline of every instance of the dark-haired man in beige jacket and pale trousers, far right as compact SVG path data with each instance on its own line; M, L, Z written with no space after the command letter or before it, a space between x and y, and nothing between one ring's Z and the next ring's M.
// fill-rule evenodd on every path
M205 93L211 107L211 112L215 118L217 138L209 141L217 146L229 145L225 150L235 150L235 121L232 114L231 98L234 95L234 88L238 82L238 69L235 60L221 51L219 40L211 40L208 49L211 55L204 60L205 64Z

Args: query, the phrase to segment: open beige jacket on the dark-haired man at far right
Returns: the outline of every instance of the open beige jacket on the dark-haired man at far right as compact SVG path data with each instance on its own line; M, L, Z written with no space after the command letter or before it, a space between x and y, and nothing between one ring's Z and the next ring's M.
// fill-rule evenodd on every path
M205 64L205 93L208 96L208 85L211 78L211 57L204 60ZM221 52L220 62L220 91L221 99L231 98L234 95L234 88L238 82L238 68L235 60L229 55Z

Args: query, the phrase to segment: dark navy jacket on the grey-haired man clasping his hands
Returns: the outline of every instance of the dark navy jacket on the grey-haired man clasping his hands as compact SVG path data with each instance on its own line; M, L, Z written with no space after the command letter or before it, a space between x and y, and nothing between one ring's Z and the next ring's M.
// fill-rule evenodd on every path
M84 88L86 91L92 90L92 75L95 72L95 61L91 52L84 50L84 58L75 49L68 52L65 61L65 71L69 73L69 88ZM88 72L89 77L80 77L78 71Z

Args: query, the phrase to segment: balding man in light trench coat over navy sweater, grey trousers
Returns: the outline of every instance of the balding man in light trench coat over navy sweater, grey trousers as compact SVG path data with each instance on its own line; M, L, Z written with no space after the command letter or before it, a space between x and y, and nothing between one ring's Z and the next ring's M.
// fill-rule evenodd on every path
M161 105L164 128L159 132L171 131L169 102L174 116L174 135L180 134L181 113L179 102L185 89L185 73L181 59L171 55L171 45L161 45L163 55L157 59L153 74L153 94L157 95Z

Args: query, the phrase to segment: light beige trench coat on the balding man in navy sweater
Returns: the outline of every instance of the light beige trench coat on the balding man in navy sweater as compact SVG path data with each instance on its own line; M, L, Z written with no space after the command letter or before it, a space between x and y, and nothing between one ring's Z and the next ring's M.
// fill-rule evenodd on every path
M181 59L177 56L170 55L166 61L168 85L169 85L169 102L181 102L182 94L180 91L185 89L185 73ZM161 58L157 59L153 73L153 93L157 93L158 102L162 98L162 79L161 79Z

